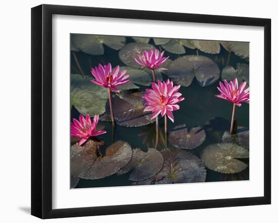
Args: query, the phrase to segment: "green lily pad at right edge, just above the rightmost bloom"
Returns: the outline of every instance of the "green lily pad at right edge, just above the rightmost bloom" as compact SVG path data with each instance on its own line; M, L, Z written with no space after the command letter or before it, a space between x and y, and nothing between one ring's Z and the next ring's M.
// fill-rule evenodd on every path
M239 84L246 81L249 84L249 65L244 63L237 63L237 68L233 66L225 66L221 73L222 80L234 81L238 79Z

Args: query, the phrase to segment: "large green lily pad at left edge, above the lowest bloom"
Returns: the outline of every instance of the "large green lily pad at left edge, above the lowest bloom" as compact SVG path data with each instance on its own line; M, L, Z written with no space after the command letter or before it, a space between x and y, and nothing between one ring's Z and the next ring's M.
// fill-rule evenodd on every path
M91 79L71 75L71 103L82 115L93 116L105 112L108 89L91 83Z

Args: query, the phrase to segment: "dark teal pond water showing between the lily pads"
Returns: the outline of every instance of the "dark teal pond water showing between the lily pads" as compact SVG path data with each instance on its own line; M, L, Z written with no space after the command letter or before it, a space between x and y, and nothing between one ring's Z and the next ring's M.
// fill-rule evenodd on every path
M134 42L133 39L127 38L128 42ZM150 42L153 44L153 40ZM116 65L125 66L125 64L119 59L118 51L113 50L107 46L104 46L105 54L101 56L92 56L81 51L75 52L75 55L80 63L81 69L84 74L88 77L91 77L90 68L93 66L101 64L107 64L111 62L112 67ZM162 49L163 50L163 49ZM186 48L187 53L185 55L196 55L196 50ZM220 70L226 65L228 59L228 52L221 46L221 51L219 54L207 54L202 51L198 51L199 55L204 55L212 60L214 60ZM179 56L177 54L172 54L165 51L166 56L170 56L170 59L174 60ZM237 63L248 63L247 61L236 56L233 52L230 53L230 58L228 64L236 67ZM80 73L80 70L74 60L74 57L71 58L71 70L72 73ZM163 79L166 80L167 76L163 75ZM221 78L219 79L221 80ZM174 123L168 121L168 129L172 129L178 124L186 124L189 128L192 128L195 125L199 125L206 131L206 139L201 146L190 150L198 157L200 153L209 144L216 142L221 142L221 136L224 130L229 129L229 121L231 118L231 111L233 105L225 100L216 98L214 95L218 94L216 87L218 86L218 81L208 87L201 87L196 79L189 87L181 87L180 93L182 97L185 98L184 101L179 103L180 109L174 112ZM138 89L139 91L146 89L142 87ZM138 91L136 90L136 91ZM78 111L72 107L71 109L71 118L78 118ZM212 128L208 127L208 122L211 119L216 118L216 122ZM227 121L225 121L226 119ZM239 126L245 126L249 129L249 104L243 103L240 108L237 108L236 111L236 120ZM160 128L163 131L164 128L164 119L160 119ZM132 148L139 147L144 151L148 150L148 146L154 147L153 137L150 136L150 133L155 135L155 123L145 125L142 127L123 127L116 126L114 129L114 139L112 139L112 124L105 121L100 121L99 125L103 125L106 134L98 137L101 140L104 140L106 145L109 146L112 140L123 140L128 142ZM160 150L161 148L159 148ZM249 164L249 159L242 159L243 162ZM216 182L216 181L230 181L230 180L249 180L249 168L245 169L241 173L237 174L221 174L207 169L206 182ZM109 187L109 186L125 186L131 185L131 181L128 180L130 172L117 176L112 175L100 180L84 180L80 179L76 188L87 188L87 187Z

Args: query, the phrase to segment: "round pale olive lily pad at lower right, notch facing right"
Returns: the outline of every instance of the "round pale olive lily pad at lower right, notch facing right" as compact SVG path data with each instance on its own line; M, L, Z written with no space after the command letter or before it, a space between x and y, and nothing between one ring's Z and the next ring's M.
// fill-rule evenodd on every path
M204 148L201 159L213 171L233 174L247 168L247 164L237 159L249 158L249 151L233 143L217 143Z

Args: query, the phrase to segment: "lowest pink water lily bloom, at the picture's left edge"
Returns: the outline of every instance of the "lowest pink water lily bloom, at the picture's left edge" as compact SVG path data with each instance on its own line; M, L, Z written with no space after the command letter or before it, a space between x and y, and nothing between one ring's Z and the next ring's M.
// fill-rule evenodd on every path
M106 133L106 131L96 131L97 124L99 122L99 115L94 116L94 120L91 122L90 116L87 114L86 118L83 115L79 115L79 121L73 119L71 123L71 135L76 137L81 137L78 145L82 145L91 136L101 135Z

